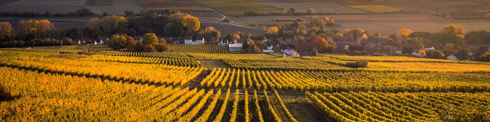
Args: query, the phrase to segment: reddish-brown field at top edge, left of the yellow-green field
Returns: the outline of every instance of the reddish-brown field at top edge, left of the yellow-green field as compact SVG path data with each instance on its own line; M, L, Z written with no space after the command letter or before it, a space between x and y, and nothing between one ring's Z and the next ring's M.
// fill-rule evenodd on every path
M141 6L147 9L155 9L155 10L181 10L181 11L212 11L204 5L200 5L194 2L189 1L167 1L167 0L158 0L158 1L139 1Z

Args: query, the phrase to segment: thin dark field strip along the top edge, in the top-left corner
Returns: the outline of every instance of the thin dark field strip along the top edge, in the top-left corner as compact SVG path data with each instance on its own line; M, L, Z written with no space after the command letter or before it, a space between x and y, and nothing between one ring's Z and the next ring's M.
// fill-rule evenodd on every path
M11 0L7 0L7 1L11 1ZM52 5L60 5L60 6L63 6L63 5L84 5L84 1L85 0L21 0L19 2L7 4L7 5L9 5L9 6L10 5L20 5L20 6L24 6L24 5L35 5L35 6L38 6L38 5L49 5L49 6L52 6Z

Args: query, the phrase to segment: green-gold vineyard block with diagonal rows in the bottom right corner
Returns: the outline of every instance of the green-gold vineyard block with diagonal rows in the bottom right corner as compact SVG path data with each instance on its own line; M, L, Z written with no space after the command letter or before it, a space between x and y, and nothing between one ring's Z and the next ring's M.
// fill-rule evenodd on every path
M322 112L338 122L451 121L451 118L456 118L456 116L444 113L452 114L452 112L462 112L462 109L468 109L468 107L477 108L490 105L488 99L490 93L488 92L417 92L397 94L383 92L323 94L306 92L306 96ZM487 119L490 118L487 117Z

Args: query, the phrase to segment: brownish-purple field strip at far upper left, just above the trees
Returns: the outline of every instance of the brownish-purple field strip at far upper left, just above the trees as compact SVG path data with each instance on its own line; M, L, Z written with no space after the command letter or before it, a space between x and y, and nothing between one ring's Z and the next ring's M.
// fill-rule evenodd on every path
M78 9L84 8L83 6L79 5L74 5L74 6L68 6L68 5L40 5L40 6L34 6L34 5L3 5L0 6L0 11L14 11L14 12L25 12L27 10L31 12L39 12L39 13L45 13L47 11L51 11L52 13L68 13L68 12L75 12ZM124 12L123 12L124 13Z

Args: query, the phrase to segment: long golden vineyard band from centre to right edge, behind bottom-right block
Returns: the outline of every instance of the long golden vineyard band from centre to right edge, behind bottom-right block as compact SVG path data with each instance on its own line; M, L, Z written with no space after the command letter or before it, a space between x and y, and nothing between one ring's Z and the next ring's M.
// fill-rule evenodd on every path
M310 72L214 69L200 82L204 87L277 89L288 91L454 91L490 90L488 73Z

